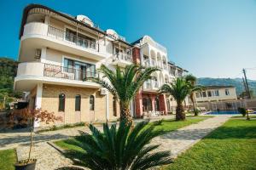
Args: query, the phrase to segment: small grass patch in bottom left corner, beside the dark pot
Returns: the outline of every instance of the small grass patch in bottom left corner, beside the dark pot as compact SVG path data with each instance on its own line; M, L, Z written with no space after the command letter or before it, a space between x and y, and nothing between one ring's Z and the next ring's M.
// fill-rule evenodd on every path
M13 170L16 162L15 150L0 150L0 169Z

